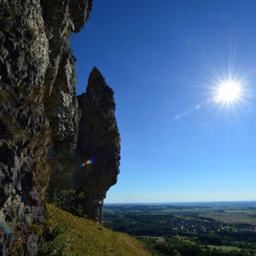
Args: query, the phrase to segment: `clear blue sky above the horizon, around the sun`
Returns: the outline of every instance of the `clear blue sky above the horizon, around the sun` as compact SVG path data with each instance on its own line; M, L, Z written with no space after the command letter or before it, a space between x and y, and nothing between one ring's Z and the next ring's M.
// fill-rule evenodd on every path
M255 10L255 0L93 1L71 45L77 94L93 66L115 91L122 159L105 202L256 199L256 111L244 104L255 103ZM232 64L233 75L252 71L235 113L208 85Z

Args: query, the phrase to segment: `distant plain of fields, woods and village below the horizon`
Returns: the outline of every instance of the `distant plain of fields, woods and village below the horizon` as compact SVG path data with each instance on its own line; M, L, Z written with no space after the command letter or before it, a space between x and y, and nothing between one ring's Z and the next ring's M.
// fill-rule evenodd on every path
M255 202L105 205L104 226L140 239L152 255L256 255Z

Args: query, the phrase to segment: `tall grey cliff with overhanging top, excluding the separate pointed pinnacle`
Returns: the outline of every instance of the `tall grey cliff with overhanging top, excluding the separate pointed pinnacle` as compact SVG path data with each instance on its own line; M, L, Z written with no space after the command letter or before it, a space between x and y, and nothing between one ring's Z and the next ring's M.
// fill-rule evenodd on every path
M92 0L1 1L0 255L40 255L31 227L44 221L51 173L70 175L80 113L69 40L91 8Z

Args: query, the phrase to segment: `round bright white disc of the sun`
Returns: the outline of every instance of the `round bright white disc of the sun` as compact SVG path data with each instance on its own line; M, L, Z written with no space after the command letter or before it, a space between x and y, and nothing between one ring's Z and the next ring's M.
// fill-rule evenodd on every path
M241 96L241 86L235 81L221 83L217 90L217 99L225 103L232 103Z

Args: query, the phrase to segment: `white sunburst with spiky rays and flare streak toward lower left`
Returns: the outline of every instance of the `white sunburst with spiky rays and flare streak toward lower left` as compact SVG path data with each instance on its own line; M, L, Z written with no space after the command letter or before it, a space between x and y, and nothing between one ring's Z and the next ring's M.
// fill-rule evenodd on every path
M256 66L256 65L255 65ZM212 124L216 124L218 118L221 115L221 112L224 111L224 115L231 114L230 118L234 117L236 121L239 119L239 111L243 108L250 108L253 111L256 111L255 106L253 105L253 100L255 100L255 89L250 86L247 79L252 76L253 72L256 73L256 67L251 68L244 74L244 76L239 76L239 74L230 74L228 76L218 74L214 67L211 67L210 70L214 76L206 77L209 79L208 83L200 83L193 81L192 85L197 85L202 88L207 89L205 95L207 98L198 102L194 106L190 106L180 115L175 115L173 118L169 119L166 123L180 120L180 118L186 116L191 116L191 114L199 112L202 108L205 111L212 111L215 109L216 114L213 117ZM209 94L211 93L211 97Z

